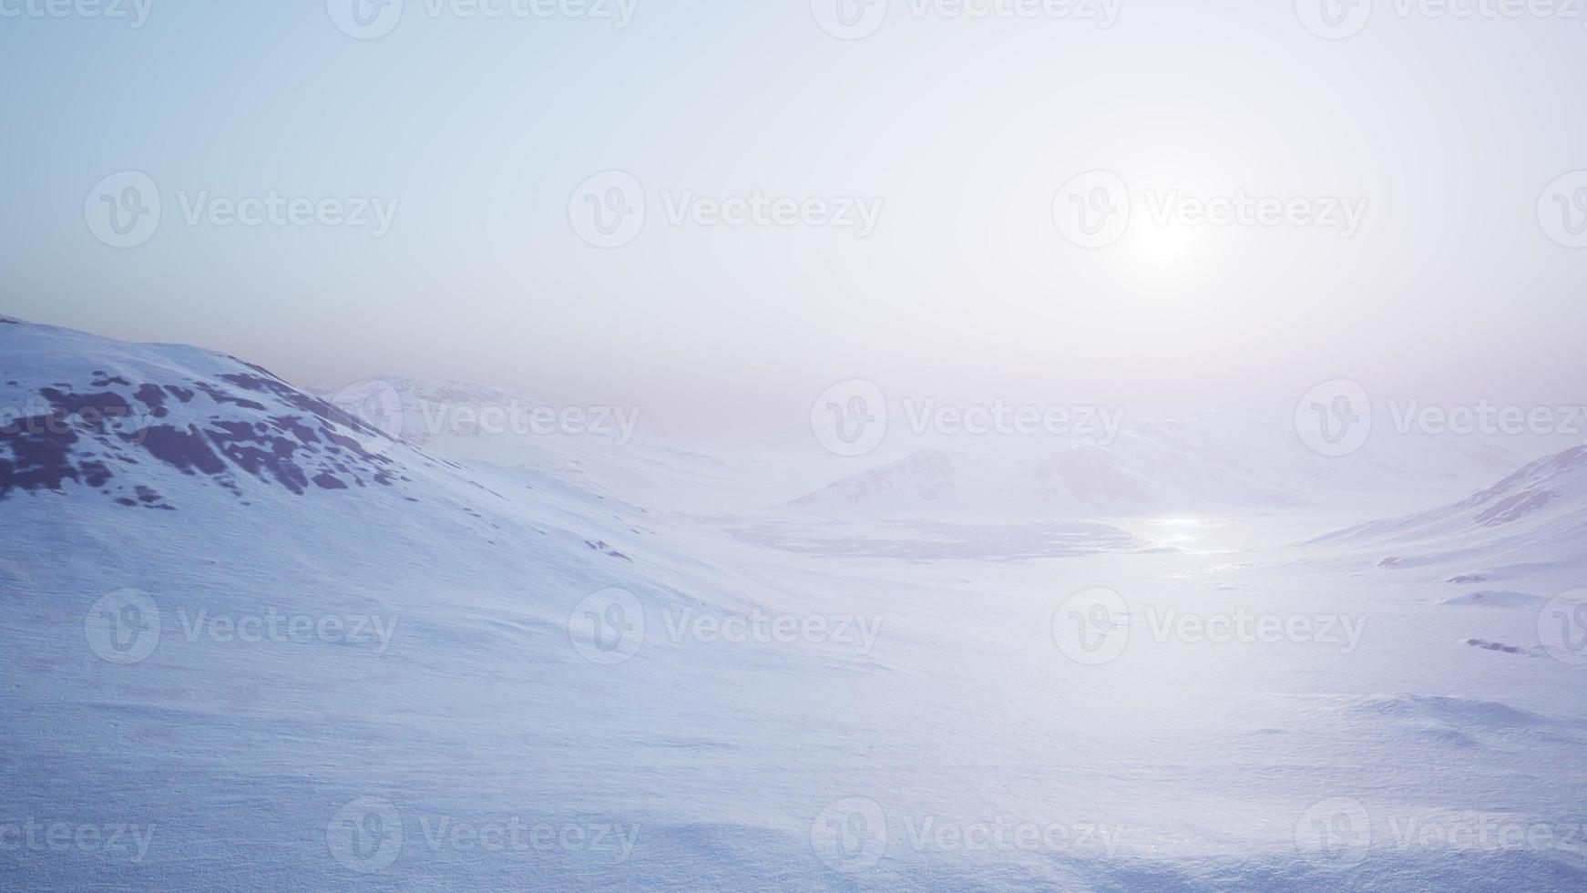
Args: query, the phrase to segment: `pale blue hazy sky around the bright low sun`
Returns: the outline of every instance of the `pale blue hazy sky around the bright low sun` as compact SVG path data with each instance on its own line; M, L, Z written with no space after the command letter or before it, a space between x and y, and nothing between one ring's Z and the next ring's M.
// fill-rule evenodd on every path
M1568 247L1587 174L1557 184L1587 170L1571 8L52 2L0 0L0 312L35 322L306 382L641 404L674 430L792 425L849 378L1071 403L1339 376L1587 398L1587 249ZM1363 13L1343 40L1305 24ZM1093 170L1130 217L1082 247L1055 219L1101 208L1063 192ZM92 222L119 171L160 205L132 247ZM603 171L632 179L586 198ZM576 225L633 211L628 184L643 228ZM227 219L271 197L314 211ZM767 225L716 222L714 203L738 219L757 200ZM1236 200L1301 205L1278 225L1195 217ZM375 208L382 227L333 225ZM1351 232L1330 208L1360 211Z

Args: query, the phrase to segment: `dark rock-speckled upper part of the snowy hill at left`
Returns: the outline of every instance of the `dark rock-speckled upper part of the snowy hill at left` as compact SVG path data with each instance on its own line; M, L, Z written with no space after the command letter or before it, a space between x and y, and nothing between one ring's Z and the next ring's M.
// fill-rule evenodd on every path
M243 504L276 490L405 493L409 465L436 465L235 357L14 320L0 347L0 500L84 490L173 511L211 490Z

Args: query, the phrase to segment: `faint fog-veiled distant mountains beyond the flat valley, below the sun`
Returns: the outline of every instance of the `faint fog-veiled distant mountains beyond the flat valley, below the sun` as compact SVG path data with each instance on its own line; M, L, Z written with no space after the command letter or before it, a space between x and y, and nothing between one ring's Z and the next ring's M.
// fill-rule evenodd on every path
M1117 438L906 438L792 504L827 514L1089 517L1298 506L1425 504L1530 458L1490 441L1382 438L1355 455L1306 450L1258 414L1130 419ZM900 450L900 444L903 452Z

